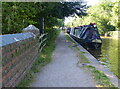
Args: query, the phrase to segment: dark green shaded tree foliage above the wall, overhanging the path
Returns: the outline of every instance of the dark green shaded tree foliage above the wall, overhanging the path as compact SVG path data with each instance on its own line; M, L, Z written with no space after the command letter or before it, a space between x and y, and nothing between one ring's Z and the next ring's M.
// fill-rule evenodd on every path
M86 15L82 2L2 2L2 34L19 33L33 24L40 27L40 18L45 19L45 28L62 26L64 17Z

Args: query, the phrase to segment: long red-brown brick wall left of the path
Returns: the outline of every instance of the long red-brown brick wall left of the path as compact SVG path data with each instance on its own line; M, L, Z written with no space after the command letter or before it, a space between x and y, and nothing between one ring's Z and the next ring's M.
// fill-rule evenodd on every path
M37 30L38 31L38 30ZM36 33L39 33L37 32ZM27 36L25 36L27 34ZM13 34L11 34L13 35ZM9 36L11 36L9 35ZM7 36L7 35L6 35ZM2 45L2 87L14 87L25 76L38 55L39 34L20 33L15 42ZM24 38L25 36L25 38ZM28 37L29 36L29 37ZM4 38L4 37L3 37ZM8 37L12 39L13 37ZM9 40L8 39L8 40ZM6 41L7 39L3 39ZM8 41L7 41L8 42ZM4 43L3 43L4 44Z

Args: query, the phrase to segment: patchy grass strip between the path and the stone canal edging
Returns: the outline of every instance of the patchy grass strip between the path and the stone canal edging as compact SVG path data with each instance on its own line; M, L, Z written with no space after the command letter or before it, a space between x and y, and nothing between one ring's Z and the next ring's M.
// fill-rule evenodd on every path
M74 43L74 41L72 39L70 39L70 37L68 35L66 35L66 38L69 41ZM86 53L86 52L81 52L80 49L77 46L75 46L74 49L76 51L78 51L77 56L80 57L80 60L77 64L79 64L79 63L90 63L88 61L88 59L84 56L84 53ZM108 88L108 89L118 89L110 82L110 79L102 71L97 70L95 67L93 67L91 65L86 65L86 66L83 66L82 68L85 68L86 70L89 71L89 73L91 73L93 75L94 79L97 82L96 87L98 87L98 89L101 89L101 87L102 87L102 89L106 89L106 88Z

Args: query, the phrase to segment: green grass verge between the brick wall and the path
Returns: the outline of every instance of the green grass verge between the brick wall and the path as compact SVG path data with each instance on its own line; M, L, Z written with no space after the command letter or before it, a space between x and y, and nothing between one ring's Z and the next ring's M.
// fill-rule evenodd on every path
M18 87L27 87L34 79L34 74L40 72L41 68L48 64L52 60L52 53L55 50L55 39L59 35L59 30L49 32L47 45L43 48L38 58L35 60L31 69L27 72L27 75L20 82Z

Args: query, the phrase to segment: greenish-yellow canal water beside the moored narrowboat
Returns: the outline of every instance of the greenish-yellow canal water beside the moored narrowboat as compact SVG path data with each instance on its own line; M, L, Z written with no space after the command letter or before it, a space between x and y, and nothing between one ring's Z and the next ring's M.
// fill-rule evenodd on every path
M120 39L119 39L120 40ZM118 51L120 45L118 45L118 39L102 38L102 47L97 50L87 49L98 61L104 66L110 68L110 70L120 78L118 75ZM120 70L120 69L119 69Z

